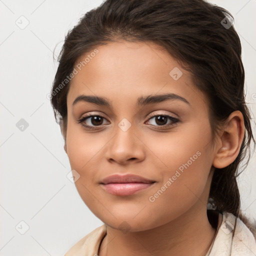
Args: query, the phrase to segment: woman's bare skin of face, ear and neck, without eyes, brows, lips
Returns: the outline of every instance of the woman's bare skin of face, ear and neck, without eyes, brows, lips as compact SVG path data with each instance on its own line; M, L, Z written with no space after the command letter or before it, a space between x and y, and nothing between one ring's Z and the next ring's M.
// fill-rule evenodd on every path
M71 169L80 175L77 191L107 225L98 255L205 255L216 232L206 214L212 174L214 167L227 166L239 153L244 135L241 112L230 114L213 144L206 95L166 51L152 42L122 40L96 48L98 53L71 80L63 136ZM174 67L183 73L177 80L169 75ZM170 92L190 105L169 99L136 106L140 96ZM80 94L103 96L112 107L82 101L72 105ZM99 126L91 118L83 121L95 130L77 122L89 112L104 117ZM167 114L179 122L162 128L150 113ZM131 124L126 131L118 126L123 118ZM197 151L200 156L149 201ZM129 196L113 195L99 182L114 173L137 174L156 182ZM127 232L119 226L123 221Z

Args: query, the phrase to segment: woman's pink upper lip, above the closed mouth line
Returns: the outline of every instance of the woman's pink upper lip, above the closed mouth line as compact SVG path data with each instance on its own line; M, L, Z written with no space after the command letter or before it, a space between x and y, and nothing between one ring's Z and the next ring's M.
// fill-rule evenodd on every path
M108 184L108 183L152 183L154 180L144 178L134 174L113 174L110 175L100 181L100 183Z

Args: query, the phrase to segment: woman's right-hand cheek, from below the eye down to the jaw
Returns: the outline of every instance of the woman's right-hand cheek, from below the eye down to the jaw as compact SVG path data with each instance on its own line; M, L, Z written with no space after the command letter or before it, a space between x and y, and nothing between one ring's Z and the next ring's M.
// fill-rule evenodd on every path
M207 146L211 139L210 127L204 125L203 132L198 126L190 127L184 132L165 134L158 144L153 139L147 143L157 156L151 157L150 164L156 169L158 165L160 177L160 182L148 197L149 207L162 219L182 214L204 191L211 167Z

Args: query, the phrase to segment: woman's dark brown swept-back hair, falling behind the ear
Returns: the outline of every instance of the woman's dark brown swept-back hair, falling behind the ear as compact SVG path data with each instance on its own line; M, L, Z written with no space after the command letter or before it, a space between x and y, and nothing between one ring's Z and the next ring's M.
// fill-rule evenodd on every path
M245 104L241 44L231 20L227 10L203 0L105 0L85 13L65 36L51 90L54 116L64 138L69 81L64 85L63 81L73 71L77 58L97 45L118 39L155 42L189 70L195 85L206 93L213 140L231 112L243 114L245 135L239 154L228 166L215 168L209 192L216 210L238 216L238 164L248 151L243 165L247 166L250 141L255 140Z

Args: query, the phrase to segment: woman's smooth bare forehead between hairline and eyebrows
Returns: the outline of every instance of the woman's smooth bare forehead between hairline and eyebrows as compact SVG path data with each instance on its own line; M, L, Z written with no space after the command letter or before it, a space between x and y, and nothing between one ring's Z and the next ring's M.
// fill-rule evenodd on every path
M141 95L169 92L194 102L205 101L192 75L153 42L98 45L81 55L74 68L77 73L70 82L68 105L81 93L104 96L118 104L135 103Z

